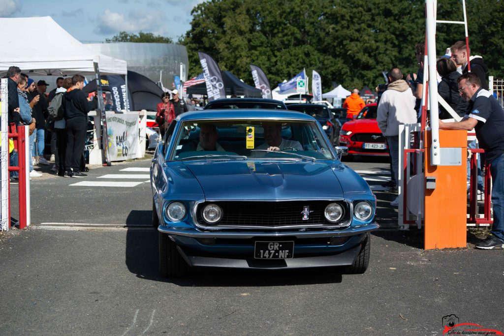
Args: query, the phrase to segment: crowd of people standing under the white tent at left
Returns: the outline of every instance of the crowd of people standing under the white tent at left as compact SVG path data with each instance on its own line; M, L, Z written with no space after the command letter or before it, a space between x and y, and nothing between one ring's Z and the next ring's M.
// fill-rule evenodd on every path
M82 172L85 136L91 100L82 88L84 77L58 77L56 88L47 93L47 84L37 83L23 74L17 66L11 66L8 77L8 122L10 130L18 125L29 126L29 176L40 177L42 172L35 165L50 165L51 171L64 177L86 177ZM53 111L50 113L50 111ZM45 154L45 139L50 138L50 154ZM10 165L17 166L17 150L10 154ZM18 172L10 173L11 183L18 183Z

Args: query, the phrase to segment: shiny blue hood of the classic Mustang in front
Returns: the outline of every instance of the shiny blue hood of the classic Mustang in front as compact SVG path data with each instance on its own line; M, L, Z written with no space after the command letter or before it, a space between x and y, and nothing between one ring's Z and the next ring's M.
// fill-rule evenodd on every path
M185 162L207 200L337 199L343 190L327 162Z

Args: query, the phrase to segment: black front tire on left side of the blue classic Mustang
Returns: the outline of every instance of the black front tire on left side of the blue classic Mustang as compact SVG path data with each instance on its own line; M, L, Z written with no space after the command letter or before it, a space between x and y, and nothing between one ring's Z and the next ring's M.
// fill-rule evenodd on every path
M188 265L177 251L177 245L166 233L159 232L159 274L165 278L180 278Z

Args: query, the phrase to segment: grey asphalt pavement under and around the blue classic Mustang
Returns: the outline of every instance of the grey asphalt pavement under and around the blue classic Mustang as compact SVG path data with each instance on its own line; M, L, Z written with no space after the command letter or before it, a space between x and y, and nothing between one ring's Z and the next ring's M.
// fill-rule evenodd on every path
M472 233L468 248L425 251L421 232L393 229L395 196L377 190L386 161L348 163L379 180L377 221L390 224L372 234L365 274L202 268L179 280L158 276L149 164L32 180L32 226L0 234L1 335L441 335L451 314L504 332L504 251L474 249Z

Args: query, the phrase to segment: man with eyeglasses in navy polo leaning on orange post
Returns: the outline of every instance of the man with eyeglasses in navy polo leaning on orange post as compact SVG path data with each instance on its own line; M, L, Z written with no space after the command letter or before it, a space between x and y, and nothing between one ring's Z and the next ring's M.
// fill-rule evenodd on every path
M493 226L491 236L476 244L482 249L504 248L504 110L493 95L481 87L479 76L466 73L459 77L459 92L469 106L459 122L439 120L440 129L476 131L480 147L490 162L492 176Z

